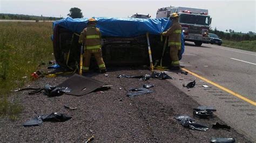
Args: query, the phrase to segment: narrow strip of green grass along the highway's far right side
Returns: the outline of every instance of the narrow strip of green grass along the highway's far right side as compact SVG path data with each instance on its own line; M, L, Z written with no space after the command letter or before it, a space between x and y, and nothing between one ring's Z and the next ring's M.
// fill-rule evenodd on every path
M253 40L253 41L224 40L222 46L256 52L256 40Z

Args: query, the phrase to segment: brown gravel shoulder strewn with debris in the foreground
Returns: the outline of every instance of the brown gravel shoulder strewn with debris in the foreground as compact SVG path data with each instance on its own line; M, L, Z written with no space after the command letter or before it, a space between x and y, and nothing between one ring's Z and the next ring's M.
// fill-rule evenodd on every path
M46 97L41 94L28 95L28 91L16 92L15 98L23 105L23 112L17 121L0 119L1 142L81 142L95 136L96 142L210 142L212 137L232 137L238 142L247 142L244 135L231 128L214 130L212 124L223 123L219 118L198 119L197 123L207 125L209 130L196 131L181 126L173 117L190 115L199 106L191 97L180 91L171 82L158 79L139 81L136 78L117 78L119 74L144 75L149 70L118 68L107 74L90 73L86 76L111 84L110 90L92 92L82 97L62 95ZM43 87L45 84L58 85L69 76L39 78L30 87ZM175 80L175 79L174 79ZM143 84L154 84L155 92L133 98L126 96L130 88ZM67 110L64 105L78 108ZM37 115L52 112L65 113L72 119L62 123L44 122L41 126L23 127L23 123ZM217 111L218 112L218 111Z

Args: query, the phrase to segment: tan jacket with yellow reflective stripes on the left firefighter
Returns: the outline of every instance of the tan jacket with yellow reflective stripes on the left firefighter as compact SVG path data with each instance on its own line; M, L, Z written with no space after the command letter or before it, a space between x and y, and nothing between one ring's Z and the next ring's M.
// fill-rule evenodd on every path
M79 40L85 42L86 49L98 49L101 47L100 38L101 33L99 28L89 25L81 32Z

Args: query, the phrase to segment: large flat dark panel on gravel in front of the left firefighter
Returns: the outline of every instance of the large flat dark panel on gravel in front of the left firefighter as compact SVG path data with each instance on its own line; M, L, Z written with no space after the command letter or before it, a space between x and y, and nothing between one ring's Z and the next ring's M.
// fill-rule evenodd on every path
M96 89L103 87L105 83L94 80L90 77L74 74L65 80L63 83L57 85L57 87L69 87L72 89L71 92L66 94L74 96L83 96L89 94Z

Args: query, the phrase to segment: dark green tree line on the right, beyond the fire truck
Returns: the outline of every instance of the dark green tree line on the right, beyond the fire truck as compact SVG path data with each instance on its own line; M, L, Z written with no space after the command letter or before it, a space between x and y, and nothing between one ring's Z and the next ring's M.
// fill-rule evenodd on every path
M231 32L231 33L224 33L223 31L217 30L215 28L214 30L210 30L210 33L217 34L221 39L231 40L231 41L253 41L256 40L256 35L252 34L253 32L249 32L250 34L243 34L243 33L237 33L237 32Z

